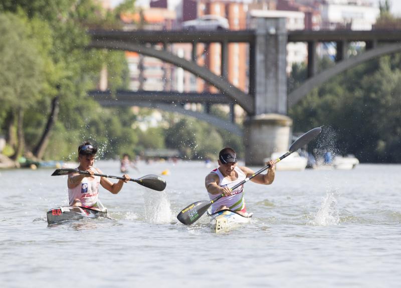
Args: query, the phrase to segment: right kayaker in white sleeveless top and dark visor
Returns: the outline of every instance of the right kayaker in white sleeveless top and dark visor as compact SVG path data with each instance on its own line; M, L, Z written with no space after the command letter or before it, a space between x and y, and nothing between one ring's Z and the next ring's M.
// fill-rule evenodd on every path
M220 194L224 197L212 204L212 213L223 209L230 209L237 213L247 216L247 208L244 199L244 185L231 191L230 188L240 183L247 177L252 176L255 172L245 166L237 166L237 155L233 148L226 147L219 153L219 167L209 173L205 179L205 186L209 192L210 199ZM268 162L270 168L266 174L256 175L251 179L252 182L258 184L272 184L275 176L275 162Z

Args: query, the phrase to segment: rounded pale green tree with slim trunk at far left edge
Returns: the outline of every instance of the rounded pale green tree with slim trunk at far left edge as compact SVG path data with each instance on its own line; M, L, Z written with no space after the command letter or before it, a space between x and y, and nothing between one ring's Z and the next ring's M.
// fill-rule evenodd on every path
M44 77L43 58L30 29L15 15L0 15L0 98L17 118L17 159L24 148L24 112L40 98Z

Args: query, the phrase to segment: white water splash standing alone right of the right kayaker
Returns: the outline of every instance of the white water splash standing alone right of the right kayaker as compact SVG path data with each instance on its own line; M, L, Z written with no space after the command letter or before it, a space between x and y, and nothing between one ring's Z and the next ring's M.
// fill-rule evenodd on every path
M338 225L340 216L337 208L338 193L327 192L323 198L322 205L317 211L315 219L312 221L314 225Z

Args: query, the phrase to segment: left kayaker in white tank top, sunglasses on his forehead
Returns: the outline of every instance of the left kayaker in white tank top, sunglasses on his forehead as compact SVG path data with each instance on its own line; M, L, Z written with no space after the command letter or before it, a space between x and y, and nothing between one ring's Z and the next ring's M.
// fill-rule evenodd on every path
M94 176L94 173L102 174L98 168L94 168L97 148L90 142L85 142L78 147L79 170L88 171L90 175L72 173L68 175L68 196L71 206L99 207L99 184L113 194L120 192L124 182L130 177L124 174L125 180L111 182L106 177Z

